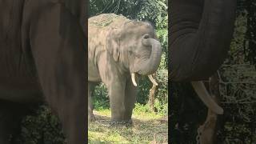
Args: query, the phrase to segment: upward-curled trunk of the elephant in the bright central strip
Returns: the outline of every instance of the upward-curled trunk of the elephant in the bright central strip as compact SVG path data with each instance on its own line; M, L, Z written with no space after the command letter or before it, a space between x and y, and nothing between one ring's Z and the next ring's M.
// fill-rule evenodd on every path
M150 58L146 59L138 63L138 74L142 75L150 75L154 74L156 70L158 70L158 66L160 64L162 48L160 42L155 40L154 38L147 38L144 36L142 38L142 45L149 46L152 48Z

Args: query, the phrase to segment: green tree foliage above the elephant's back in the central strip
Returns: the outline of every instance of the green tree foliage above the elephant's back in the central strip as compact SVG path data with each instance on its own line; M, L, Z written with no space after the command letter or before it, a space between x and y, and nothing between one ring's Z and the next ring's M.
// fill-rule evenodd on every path
M166 0L90 0L89 15L115 13L131 19L147 20L160 24L161 19L166 19L166 3Z

